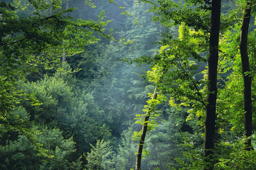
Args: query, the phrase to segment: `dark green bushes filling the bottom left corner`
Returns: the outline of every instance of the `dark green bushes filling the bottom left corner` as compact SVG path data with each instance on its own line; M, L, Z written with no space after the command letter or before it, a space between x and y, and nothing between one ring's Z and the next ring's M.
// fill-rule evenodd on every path
M24 115L25 116L25 115ZM35 129L40 129L36 128ZM0 147L1 169L70 169L81 168L79 160L72 162L71 155L76 151L72 138L64 139L58 129L44 128L37 135L48 157L40 156L31 141L24 135L15 141L7 141Z

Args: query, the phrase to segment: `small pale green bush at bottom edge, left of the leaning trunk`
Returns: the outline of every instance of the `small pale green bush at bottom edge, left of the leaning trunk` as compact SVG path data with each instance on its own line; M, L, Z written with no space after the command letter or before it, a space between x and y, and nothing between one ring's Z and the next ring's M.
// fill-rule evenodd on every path
M91 145L91 152L87 153L86 160L88 164L86 168L88 169L114 169L114 153L112 151L112 146L110 146L109 141L105 142L104 139L97 140L96 146Z

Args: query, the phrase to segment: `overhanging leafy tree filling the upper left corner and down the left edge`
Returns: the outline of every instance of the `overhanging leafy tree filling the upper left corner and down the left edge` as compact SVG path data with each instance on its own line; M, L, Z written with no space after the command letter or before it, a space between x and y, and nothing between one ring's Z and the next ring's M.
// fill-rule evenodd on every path
M72 9L61 11L61 1L28 0L28 4L0 2L0 119L4 131L18 131L34 140L35 133L28 128L28 122L10 112L20 103L20 96L29 96L16 90L18 80L24 79L27 71L36 71L38 65L55 67L64 47L66 54L72 55L80 52L81 47L97 42L99 38L93 33L110 36L103 33L102 27L109 22L102 21L103 13L98 21L75 21L66 16ZM32 103L39 104L37 100Z

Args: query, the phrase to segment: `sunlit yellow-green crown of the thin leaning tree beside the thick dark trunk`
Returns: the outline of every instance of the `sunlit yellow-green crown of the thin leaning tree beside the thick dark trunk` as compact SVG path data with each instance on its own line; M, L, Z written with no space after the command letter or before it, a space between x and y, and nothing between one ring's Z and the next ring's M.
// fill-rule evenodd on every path
M196 32L182 24L179 28L179 38L173 39L172 36L165 35L158 55L153 58L146 56L133 60L150 64L152 71L147 72L148 81L158 82L160 90L171 94L169 101L171 106L177 108L192 106L189 110L190 117L195 113L198 117L204 115L202 106L205 106L207 95L205 89L207 76L203 77L197 72L199 65L193 61L193 58L199 62L206 61L205 56L200 56L200 53L205 52L206 45L202 35L201 31ZM166 73L162 75L162 72ZM199 123L203 125L202 122Z

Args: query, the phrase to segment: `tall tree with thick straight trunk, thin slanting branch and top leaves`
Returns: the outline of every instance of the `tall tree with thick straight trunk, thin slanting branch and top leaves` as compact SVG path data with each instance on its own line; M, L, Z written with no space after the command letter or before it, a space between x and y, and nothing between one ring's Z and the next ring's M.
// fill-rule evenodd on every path
M209 37L209 56L208 56L208 80L207 80L207 98L204 101L202 98L198 86L195 83L189 73L183 68L186 63L179 61L180 65L186 77L194 84L194 90L197 91L198 96L201 97L200 101L206 108L205 114L205 145L204 145L204 157L206 169L213 169L213 150L214 150L214 133L215 133L215 118L216 118L216 99L217 99L217 66L218 66L218 39L220 30L220 17L221 17L221 0L209 1L188 1L185 6L172 1L143 1L152 4L152 11L159 14L155 17L156 21L160 21L163 26L171 27L173 25L179 25L182 22L185 26L194 27L196 31L201 30L204 32L204 36L208 39L207 33L210 33ZM197 5L199 3L200 5ZM195 5L193 8L187 8L188 5ZM211 21L209 21L208 14L211 12ZM187 17L189 16L189 17ZM170 22L170 20L172 22ZM210 27L210 30L209 30ZM200 34L198 34L200 36ZM166 39L171 36L169 33L163 34ZM195 36L196 37L196 36ZM163 41L163 45L169 43L167 40ZM196 49L195 47L192 47ZM179 54L180 49L177 49L176 54ZM164 55L163 55L164 56ZM200 61L203 57L198 57ZM177 57L177 55L176 55ZM204 60L204 59L203 59ZM159 60L161 62L161 60ZM185 66L186 67L186 66ZM185 96L189 96L186 95ZM205 104L206 103L206 104Z

